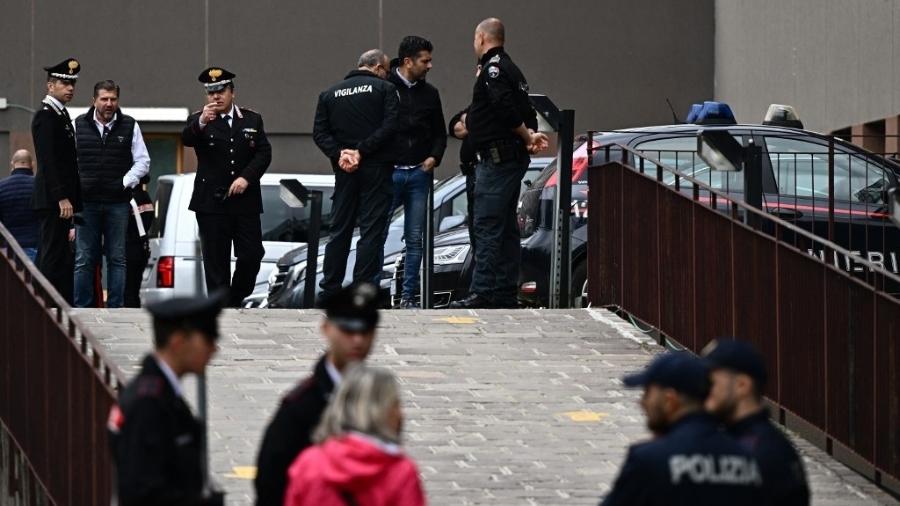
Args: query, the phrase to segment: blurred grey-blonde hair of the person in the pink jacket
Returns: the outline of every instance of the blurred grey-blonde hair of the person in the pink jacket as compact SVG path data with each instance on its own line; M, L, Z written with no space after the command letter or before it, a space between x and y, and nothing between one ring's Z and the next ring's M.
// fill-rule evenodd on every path
M386 369L352 364L322 415L313 435L316 443L348 432L361 432L390 443L399 443L400 434L388 423L388 416L400 402L397 379Z

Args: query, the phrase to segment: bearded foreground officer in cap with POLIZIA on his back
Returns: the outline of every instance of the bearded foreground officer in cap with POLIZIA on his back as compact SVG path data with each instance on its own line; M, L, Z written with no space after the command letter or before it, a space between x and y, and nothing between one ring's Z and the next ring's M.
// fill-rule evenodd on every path
M656 438L628 449L603 506L764 504L756 461L703 411L709 369L700 359L666 353L623 382L644 387L641 406Z

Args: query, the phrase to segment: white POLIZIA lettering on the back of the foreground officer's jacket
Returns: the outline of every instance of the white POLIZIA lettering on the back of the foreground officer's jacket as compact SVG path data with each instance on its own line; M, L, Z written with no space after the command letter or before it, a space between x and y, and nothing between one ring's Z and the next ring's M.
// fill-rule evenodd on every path
M672 484L683 479L693 483L761 485L756 462L740 455L673 455L669 457Z

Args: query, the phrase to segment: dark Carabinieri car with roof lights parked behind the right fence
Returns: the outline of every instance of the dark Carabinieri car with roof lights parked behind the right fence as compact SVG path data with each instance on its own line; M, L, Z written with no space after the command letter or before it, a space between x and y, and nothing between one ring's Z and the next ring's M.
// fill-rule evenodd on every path
M752 140L763 151L763 207L800 228L827 237L829 136L793 128L736 124L733 118L715 118L717 124L698 123L616 130L596 134L595 147L624 145L644 156L678 169L719 191L743 196L743 173L713 171L697 155L697 132L724 130L738 142ZM797 122L795 122L797 123ZM605 157L594 152L593 164ZM612 149L610 158L621 159ZM900 229L889 219L886 194L897 185L900 165L858 146L834 139L834 241L858 258L880 264L889 272L900 268ZM635 160L629 157L629 162ZM646 162L645 162L646 165ZM572 170L572 288L576 304L587 303L587 148L576 146ZM653 171L649 165L648 171ZM520 301L545 306L550 283L550 258L554 247L552 216L557 183L552 162L522 195L519 225L524 238L520 271ZM664 181L675 184L666 174ZM685 189L684 191L688 191ZM702 197L701 197L702 198ZM809 254L848 271L863 267L854 258L806 247ZM639 252L636 252L639 254Z

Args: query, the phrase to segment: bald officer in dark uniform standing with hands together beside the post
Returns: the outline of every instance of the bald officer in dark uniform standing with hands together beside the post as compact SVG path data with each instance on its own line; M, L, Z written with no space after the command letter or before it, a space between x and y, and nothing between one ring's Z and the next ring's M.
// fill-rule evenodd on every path
M516 307L519 227L516 204L529 153L547 146L536 133L528 83L503 49L503 23L489 18L475 29L482 71L475 80L466 127L478 156L475 167L475 238L478 249L471 295L451 308Z

